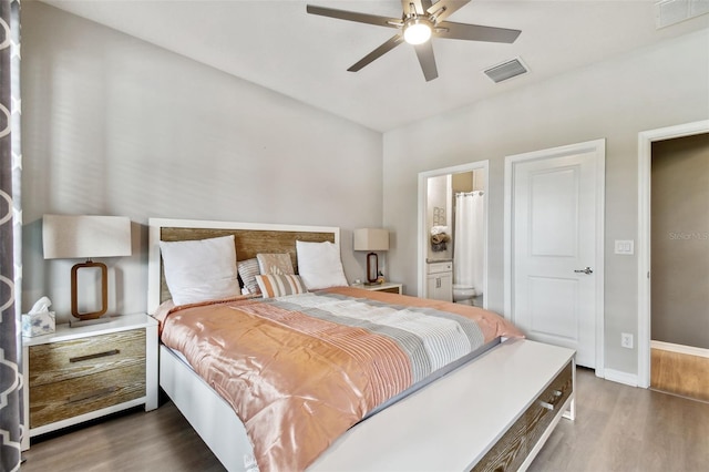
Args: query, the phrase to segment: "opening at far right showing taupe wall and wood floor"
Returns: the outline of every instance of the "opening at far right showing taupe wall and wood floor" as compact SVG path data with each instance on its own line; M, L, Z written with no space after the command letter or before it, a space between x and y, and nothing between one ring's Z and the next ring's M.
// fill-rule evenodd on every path
M709 401L709 133L650 164L650 388Z

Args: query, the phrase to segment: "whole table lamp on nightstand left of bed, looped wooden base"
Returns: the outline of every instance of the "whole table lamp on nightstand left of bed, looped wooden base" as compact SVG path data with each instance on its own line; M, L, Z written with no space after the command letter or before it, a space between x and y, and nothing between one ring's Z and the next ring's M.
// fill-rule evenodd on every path
M93 257L131 255L131 219L125 216L44 215L42 245L45 259L86 259L71 268L71 314L81 321L97 320L109 309L107 268ZM101 271L101 309L79 311L78 273L85 268Z

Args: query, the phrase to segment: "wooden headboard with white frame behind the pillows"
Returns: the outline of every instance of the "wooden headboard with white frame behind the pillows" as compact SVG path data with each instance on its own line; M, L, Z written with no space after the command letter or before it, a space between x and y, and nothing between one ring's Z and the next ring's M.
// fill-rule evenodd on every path
M298 273L296 240L326 242L339 246L340 228L335 226L296 226L259 223L204 222L197 219L150 218L147 263L147 312L154 314L161 302L171 298L160 255L161 240L195 240L234 235L236 259L246 260L257 254L286 253Z

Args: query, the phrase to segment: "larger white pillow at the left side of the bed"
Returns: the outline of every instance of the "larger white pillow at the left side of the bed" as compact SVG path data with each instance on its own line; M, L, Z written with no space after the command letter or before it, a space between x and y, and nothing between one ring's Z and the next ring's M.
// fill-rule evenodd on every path
M234 236L160 242L165 281L175 305L240 295Z

